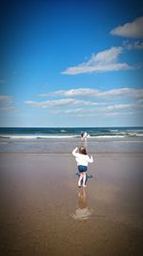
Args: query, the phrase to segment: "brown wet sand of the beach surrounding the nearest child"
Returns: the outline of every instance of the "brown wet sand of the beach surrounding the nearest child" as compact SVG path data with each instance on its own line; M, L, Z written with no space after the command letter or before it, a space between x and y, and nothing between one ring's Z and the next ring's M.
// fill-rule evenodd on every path
M86 189L72 154L0 154L0 255L140 256L143 154L96 153Z

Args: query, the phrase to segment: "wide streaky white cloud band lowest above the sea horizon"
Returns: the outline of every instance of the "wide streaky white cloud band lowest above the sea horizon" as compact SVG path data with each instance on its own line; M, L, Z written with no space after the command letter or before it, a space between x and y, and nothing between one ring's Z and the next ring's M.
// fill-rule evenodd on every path
M127 87L108 91L92 88L77 88L53 91L51 95L71 98L48 100L44 102L26 101L25 103L31 106L50 108L50 113L53 115L72 115L77 118L100 117L102 115L113 117L135 114L137 111L142 111L141 109L143 107L143 89L139 88ZM83 99L86 100L79 100L75 97L83 97ZM87 97L92 97L92 100L88 101ZM97 101L95 99L97 99ZM104 99L105 102L101 102L101 99ZM114 104L116 102L118 102L118 104Z

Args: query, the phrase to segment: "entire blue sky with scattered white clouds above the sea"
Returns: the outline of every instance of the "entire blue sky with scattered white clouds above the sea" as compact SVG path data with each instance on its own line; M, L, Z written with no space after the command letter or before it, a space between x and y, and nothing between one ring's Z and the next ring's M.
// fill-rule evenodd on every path
M0 127L143 127L143 2L0 4Z

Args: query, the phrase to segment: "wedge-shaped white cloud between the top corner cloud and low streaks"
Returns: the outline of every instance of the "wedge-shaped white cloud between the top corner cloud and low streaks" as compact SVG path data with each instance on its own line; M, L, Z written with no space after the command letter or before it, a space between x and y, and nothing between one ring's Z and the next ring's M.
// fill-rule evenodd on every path
M62 74L76 75L133 69L134 67L127 63L117 62L117 58L122 54L122 52L122 47L112 47L111 49L99 52L96 55L92 54L92 58L87 62L69 67L63 71Z

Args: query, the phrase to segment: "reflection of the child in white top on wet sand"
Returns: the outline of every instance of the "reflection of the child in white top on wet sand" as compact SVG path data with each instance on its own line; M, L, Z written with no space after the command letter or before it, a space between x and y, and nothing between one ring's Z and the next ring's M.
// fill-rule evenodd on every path
M87 189L82 188L78 192L78 208L75 211L75 214L72 215L72 218L76 221L88 220L92 215L92 210L88 207L87 200Z

